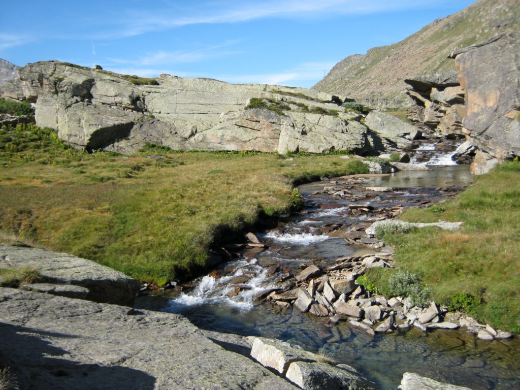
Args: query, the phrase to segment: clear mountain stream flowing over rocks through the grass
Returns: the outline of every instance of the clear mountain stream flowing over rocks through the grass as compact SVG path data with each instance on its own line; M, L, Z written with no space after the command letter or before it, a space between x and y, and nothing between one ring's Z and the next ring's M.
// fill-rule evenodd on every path
M469 168L460 165L375 175L359 184L353 197L355 203L376 209L406 207L438 201L470 181ZM404 372L474 390L520 388L518 340L489 343L465 331L435 330L424 334L415 329L370 337L349 328L346 322L329 326L323 318L302 314L295 308L254 300L258 292L289 283L290 278L284 280L284 275L294 274L303 264L327 266L334 264L337 257L385 250L351 246L340 237L342 229L376 218L346 213L352 200L316 194L324 185L330 184L301 186L306 198L304 213L290 217L274 230L258 233L267 250L242 251L240 258L200 278L186 293L173 299L143 296L138 306L183 314L202 329L276 337L298 344L354 366L384 390L397 388ZM363 186L392 186L394 191L367 197Z

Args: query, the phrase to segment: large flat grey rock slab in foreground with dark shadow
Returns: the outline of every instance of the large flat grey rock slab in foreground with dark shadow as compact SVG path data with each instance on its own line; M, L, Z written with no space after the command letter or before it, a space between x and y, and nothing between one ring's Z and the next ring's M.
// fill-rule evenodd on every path
M20 388L296 389L176 314L0 288L0 318Z

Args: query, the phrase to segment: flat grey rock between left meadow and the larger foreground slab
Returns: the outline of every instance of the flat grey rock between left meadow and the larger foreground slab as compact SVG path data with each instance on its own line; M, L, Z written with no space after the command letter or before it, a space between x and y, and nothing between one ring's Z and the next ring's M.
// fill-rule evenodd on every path
M0 268L33 267L49 282L88 289L87 300L132 306L137 280L93 261L65 253L0 244Z

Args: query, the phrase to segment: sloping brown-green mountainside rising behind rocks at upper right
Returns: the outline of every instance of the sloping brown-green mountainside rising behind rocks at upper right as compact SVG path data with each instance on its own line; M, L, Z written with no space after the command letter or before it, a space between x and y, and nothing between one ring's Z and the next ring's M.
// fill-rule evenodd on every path
M479 0L456 14L437 19L396 44L348 56L311 89L340 94L373 108L409 107L404 80L457 76L451 51L520 28L518 0Z

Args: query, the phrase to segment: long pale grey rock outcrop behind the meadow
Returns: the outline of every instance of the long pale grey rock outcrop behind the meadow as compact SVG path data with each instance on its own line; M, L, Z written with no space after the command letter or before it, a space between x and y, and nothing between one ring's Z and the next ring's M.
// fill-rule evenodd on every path
M133 153L147 143L174 150L386 151L361 115L341 107L344 98L309 89L166 74L141 79L56 61L19 73L0 95L31 101L38 126L89 151ZM389 144L408 145L398 134Z

